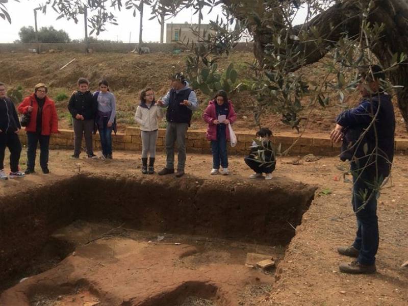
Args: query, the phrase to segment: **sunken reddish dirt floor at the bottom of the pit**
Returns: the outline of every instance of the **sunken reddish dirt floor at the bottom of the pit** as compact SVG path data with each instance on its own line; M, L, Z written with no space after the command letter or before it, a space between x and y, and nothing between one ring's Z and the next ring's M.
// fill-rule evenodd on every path
M256 305L252 300L265 297L265 288L270 290L274 269L248 269L246 254L270 254L279 261L285 251L80 220L56 231L52 239L74 250L61 263L50 261L51 269L18 286L19 292L28 294L30 305ZM53 250L42 254L53 255ZM23 305L24 295L12 293L5 292L5 304L14 300Z

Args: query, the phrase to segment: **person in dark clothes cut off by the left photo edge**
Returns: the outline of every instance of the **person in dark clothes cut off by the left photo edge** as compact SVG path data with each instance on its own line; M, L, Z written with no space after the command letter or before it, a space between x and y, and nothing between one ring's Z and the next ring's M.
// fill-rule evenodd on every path
M17 133L20 129L20 120L18 119L14 104L6 97L6 86L0 82L0 180L8 179L4 171L6 147L10 150L10 179L24 176L24 173L18 170L21 143Z

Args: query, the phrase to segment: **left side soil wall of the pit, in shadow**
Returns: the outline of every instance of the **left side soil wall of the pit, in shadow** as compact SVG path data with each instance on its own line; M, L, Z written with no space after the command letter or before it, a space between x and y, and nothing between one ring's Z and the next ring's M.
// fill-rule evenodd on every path
M50 234L78 218L72 205L78 183L66 180L0 197L0 290L8 278L30 265Z

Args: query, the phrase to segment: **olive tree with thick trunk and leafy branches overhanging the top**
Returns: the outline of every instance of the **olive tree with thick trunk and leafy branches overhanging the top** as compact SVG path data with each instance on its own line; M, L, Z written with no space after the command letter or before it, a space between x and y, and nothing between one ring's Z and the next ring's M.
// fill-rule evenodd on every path
M186 8L201 14L204 7L222 7L252 36L252 83L250 90L260 106L273 104L284 122L299 128L298 114L304 107L329 103L325 92L336 90L340 100L356 84L356 74L347 71L379 62L394 87L398 106L408 129L408 3L402 0L143 0L161 22ZM0 17L9 19L7 0L0 0ZM140 1L47 0L40 7L52 7L58 18L78 21L84 6L90 10L89 27L98 34L107 23L116 24L113 9L140 8ZM300 11L302 24L293 25ZM201 17L201 16L200 16ZM311 82L299 68L328 56L331 65L322 82ZM334 82L329 75L337 75ZM262 111L262 107L260 108Z

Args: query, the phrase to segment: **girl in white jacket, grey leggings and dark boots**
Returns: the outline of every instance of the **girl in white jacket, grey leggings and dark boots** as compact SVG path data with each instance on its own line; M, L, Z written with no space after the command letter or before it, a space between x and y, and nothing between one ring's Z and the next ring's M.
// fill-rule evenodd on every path
M155 93L151 88L140 92L140 104L136 109L135 121L140 124L142 131L142 173L155 173L156 141L159 122L163 118L163 111L156 105ZM149 167L147 155L150 153Z

